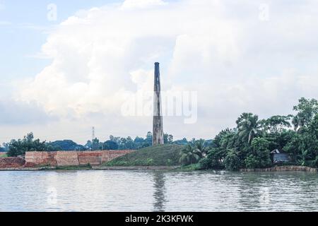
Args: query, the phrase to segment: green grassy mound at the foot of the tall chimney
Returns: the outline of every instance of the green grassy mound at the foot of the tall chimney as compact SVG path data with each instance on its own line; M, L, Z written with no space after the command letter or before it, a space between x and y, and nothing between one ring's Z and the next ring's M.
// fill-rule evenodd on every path
M177 166L183 145L157 145L142 148L133 153L106 162L104 165L113 166Z

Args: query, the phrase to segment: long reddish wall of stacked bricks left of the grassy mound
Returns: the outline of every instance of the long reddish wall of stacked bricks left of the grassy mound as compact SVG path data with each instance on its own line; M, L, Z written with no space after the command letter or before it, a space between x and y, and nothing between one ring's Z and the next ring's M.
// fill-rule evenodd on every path
M101 165L134 150L27 152L25 167Z

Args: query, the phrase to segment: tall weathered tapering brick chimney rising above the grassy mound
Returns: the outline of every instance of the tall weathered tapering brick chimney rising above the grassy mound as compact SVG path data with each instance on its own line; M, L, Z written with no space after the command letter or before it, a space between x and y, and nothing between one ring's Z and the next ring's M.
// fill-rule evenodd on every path
M163 144L163 112L161 107L159 63L155 63L155 87L153 92L153 145Z

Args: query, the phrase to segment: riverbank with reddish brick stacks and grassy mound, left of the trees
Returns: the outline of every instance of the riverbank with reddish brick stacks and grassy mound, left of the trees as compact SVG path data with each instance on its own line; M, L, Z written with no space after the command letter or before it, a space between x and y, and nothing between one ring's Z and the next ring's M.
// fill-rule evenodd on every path
M140 150L27 152L0 158L1 171L37 170L170 170L179 166L182 145L156 145Z

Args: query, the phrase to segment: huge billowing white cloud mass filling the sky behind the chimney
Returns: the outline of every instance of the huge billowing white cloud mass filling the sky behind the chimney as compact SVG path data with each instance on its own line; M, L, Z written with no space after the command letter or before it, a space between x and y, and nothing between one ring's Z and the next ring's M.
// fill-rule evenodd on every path
M298 97L318 97L316 1L290 8L271 1L266 23L254 1L164 4L126 0L71 16L42 47L52 64L21 83L16 99L73 128L98 123L105 133L143 134L151 119L125 118L120 109L127 94L152 89L160 61L163 90L199 92L197 124L167 117L165 131L211 138L244 111L288 114Z

